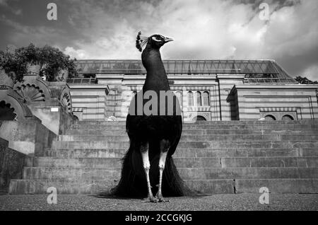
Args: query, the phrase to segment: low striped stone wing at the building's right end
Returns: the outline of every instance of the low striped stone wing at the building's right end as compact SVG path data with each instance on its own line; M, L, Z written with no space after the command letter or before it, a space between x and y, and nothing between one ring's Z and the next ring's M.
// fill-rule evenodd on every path
M237 94L238 120L259 120L271 115L281 120L290 115L294 120L317 120L317 85L302 84L242 84L232 88L230 96Z

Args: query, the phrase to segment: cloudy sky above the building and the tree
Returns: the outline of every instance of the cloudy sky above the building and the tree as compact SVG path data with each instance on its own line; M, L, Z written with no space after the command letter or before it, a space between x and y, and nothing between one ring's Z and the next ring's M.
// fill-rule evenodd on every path
M33 42L76 59L141 59L141 30L175 40L163 59L275 59L318 80L317 0L0 0L0 30L0 50Z

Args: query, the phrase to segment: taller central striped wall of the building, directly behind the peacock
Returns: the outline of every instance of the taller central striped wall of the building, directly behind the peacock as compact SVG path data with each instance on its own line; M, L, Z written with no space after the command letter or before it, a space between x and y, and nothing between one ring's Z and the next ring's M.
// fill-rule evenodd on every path
M98 77L98 83L107 85L110 88L110 93L107 95L105 105L106 117L114 115L119 121L126 120L128 107L132 96L134 96L134 91L141 91L146 76L137 74L97 74L96 76ZM175 93L181 93L180 97L182 100L180 101L180 106L182 108L184 121L192 121L194 117L197 116L204 117L206 120L220 120L220 100L218 98L216 75L171 74L168 75L168 79L170 81L171 90ZM81 88L84 90L85 85L81 86ZM230 89L230 87L228 89ZM192 92L194 96L196 92L200 92L201 94L208 92L208 105L197 105L196 96L194 97L193 105L190 105L189 92ZM86 98L88 98L88 96ZM81 99L76 101L80 103ZM87 119L83 117L83 120Z

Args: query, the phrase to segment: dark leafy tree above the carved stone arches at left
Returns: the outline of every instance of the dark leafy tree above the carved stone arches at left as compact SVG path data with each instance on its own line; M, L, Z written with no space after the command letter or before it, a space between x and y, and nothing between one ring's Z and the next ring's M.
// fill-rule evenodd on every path
M35 47L32 43L20 47L14 53L0 51L0 67L15 81L22 81L28 71L28 64L40 65L40 76L47 81L57 81L59 71L69 71L69 78L77 76L76 59L71 59L58 48L45 45Z

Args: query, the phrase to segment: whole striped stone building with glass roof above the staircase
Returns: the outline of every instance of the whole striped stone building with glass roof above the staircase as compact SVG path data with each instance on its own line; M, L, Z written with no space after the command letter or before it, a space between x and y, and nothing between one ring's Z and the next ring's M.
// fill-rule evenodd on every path
M318 117L317 85L302 85L274 60L165 60L184 121ZM69 79L79 120L125 120L146 70L139 60L79 60ZM94 78L85 79L92 76Z

